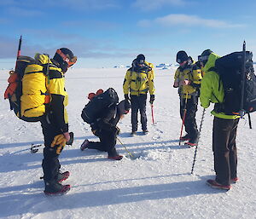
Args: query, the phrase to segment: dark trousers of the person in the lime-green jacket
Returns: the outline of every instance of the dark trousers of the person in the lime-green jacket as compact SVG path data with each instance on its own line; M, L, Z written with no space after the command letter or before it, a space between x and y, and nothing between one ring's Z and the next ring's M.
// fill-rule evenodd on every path
M239 118L224 119L214 117L212 150L216 182L230 185L230 178L237 174L236 130Z

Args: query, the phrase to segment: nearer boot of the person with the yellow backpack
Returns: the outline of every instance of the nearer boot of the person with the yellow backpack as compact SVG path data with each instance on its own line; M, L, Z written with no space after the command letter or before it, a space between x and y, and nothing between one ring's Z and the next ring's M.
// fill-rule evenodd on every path
M49 196L65 194L71 188L70 185L61 185L59 182L44 182L44 184L44 194Z

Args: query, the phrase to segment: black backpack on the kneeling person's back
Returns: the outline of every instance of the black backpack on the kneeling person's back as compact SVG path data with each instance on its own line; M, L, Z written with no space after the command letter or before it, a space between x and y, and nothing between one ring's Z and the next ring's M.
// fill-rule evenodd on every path
M101 117L103 110L119 102L119 96L113 88L107 89L101 95L96 95L85 105L81 117L87 124L94 123Z

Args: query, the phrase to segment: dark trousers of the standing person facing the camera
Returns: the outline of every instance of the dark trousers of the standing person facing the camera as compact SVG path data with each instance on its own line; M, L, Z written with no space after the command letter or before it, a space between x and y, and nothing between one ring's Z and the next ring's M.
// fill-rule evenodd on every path
M137 131L137 113L141 114L142 129L147 130L147 95L131 95L131 129Z

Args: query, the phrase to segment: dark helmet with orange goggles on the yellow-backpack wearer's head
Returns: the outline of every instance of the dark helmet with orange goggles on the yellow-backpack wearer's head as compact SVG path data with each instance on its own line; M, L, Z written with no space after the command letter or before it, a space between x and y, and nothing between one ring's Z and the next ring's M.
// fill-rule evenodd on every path
M77 56L70 49L61 48L56 50L53 60L60 65L63 72L67 72L67 68L76 63Z

